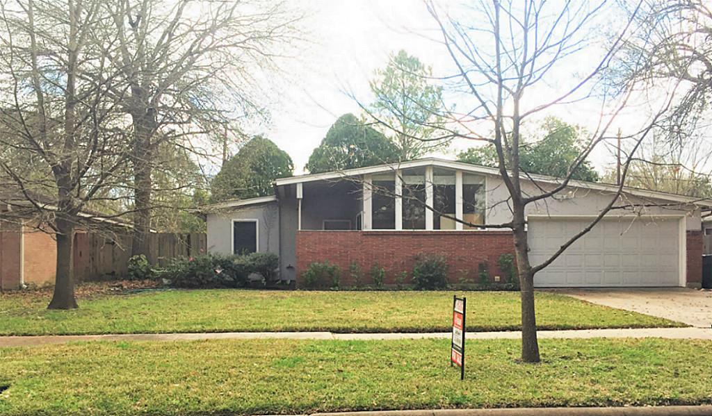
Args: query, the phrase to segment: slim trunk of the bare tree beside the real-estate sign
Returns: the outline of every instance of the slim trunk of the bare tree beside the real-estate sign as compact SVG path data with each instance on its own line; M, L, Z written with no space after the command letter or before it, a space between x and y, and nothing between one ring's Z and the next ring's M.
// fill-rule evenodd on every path
M534 313L534 275L529 264L529 245L524 230L524 209L515 208L513 215L514 252L519 274L522 306L522 361L538 363L539 342L537 339L536 315Z

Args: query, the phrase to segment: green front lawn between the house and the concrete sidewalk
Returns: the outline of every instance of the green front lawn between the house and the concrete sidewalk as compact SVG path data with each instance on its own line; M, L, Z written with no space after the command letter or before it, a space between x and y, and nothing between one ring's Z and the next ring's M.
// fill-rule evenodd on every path
M171 290L80 299L48 311L49 294L0 295L0 334L131 334L216 331L449 331L454 292ZM519 294L466 292L471 331L518 329ZM684 326L539 292L540 329Z

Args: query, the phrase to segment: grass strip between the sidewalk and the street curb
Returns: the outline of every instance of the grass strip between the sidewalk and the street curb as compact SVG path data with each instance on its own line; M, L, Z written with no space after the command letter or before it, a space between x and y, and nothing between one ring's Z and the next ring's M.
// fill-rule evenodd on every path
M711 341L468 341L466 379L449 341L74 343L0 349L2 415L300 414L440 407L712 402Z

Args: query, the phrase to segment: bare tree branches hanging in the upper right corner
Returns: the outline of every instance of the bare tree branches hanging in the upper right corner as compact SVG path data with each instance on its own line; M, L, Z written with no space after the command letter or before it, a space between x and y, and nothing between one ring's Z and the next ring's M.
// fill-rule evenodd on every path
M681 93L661 123L659 138L672 147L685 146L710 127L712 8L702 0L648 0L639 9L629 5L627 12L642 30L625 39L611 80L622 85L635 80L652 91L661 83L680 82Z

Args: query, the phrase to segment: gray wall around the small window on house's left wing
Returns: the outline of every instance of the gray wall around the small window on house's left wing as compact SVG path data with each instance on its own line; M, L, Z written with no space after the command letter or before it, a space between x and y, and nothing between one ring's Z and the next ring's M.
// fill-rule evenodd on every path
M208 252L232 254L232 220L257 220L258 252L279 255L279 206L276 202L207 215Z

